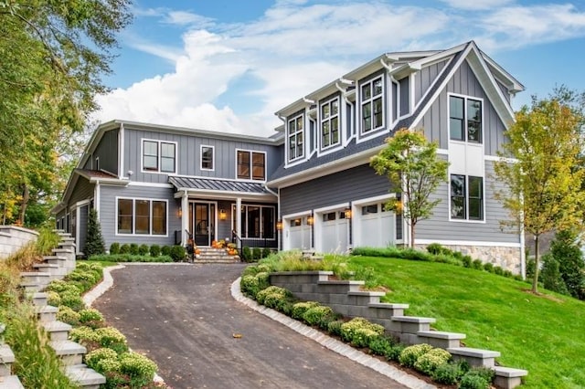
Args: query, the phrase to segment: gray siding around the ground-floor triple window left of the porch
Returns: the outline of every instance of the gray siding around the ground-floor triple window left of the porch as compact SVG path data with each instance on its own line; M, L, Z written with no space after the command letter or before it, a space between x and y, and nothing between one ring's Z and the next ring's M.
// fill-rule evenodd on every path
M116 198L139 198L148 200L167 200L166 217L167 227L166 236L156 235L116 235L118 215L116 213ZM106 247L110 247L113 242L137 243L147 245L172 245L175 243L175 231L181 229L181 219L177 216L178 203L174 197L174 191L169 184L168 187L144 187L139 185L108 186L101 185L101 203L100 203L100 224L101 235L103 236Z

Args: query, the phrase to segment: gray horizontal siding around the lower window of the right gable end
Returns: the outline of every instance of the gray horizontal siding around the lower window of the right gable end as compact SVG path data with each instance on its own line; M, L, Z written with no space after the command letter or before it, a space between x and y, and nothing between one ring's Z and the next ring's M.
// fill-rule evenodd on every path
M417 224L417 239L456 240L470 242L520 243L519 231L513 227L503 227L500 222L509 220L505 208L494 198L495 191L504 185L494 180L494 163L485 162L484 176L484 221L449 220L449 184L441 184L432 195L441 198L441 203L433 208L431 219Z

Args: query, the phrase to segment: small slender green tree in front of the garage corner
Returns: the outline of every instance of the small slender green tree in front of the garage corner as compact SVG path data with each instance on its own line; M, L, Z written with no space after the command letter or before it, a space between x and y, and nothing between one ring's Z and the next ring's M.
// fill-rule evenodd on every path
M428 219L432 209L441 202L441 199L431 199L431 194L447 181L449 163L437 157L437 143L428 142L422 131L401 129L386 144L370 165L401 188L402 199L390 199L386 207L406 217L410 247L414 247L415 226L420 220Z

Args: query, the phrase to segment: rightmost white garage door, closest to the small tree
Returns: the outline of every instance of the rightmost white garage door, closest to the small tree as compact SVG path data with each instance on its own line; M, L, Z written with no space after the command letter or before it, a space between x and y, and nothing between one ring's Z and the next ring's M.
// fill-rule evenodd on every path
M387 247L394 244L394 213L384 210L384 203L360 206L360 243L365 247Z

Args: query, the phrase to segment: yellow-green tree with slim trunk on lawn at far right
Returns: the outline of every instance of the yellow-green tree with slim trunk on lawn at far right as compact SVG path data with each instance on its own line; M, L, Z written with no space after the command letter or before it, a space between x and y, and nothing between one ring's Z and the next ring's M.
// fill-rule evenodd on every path
M508 209L512 222L535 238L532 291L537 293L540 237L554 230L582 226L585 170L581 162L583 138L581 110L568 104L567 95L532 99L516 112L516 122L495 163L495 174L507 188L495 193ZM510 161L509 158L512 158Z

